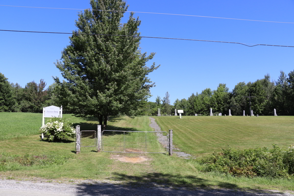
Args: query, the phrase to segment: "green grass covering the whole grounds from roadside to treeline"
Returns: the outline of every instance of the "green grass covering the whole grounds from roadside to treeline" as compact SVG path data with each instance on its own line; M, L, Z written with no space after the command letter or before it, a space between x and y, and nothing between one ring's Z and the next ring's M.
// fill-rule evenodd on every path
M97 128L95 118L64 117L74 125L80 124L81 130ZM62 182L99 179L126 185L136 183L147 186L150 182L156 182L190 188L294 190L293 179L236 178L216 172L200 172L202 166L195 159L186 160L175 155L98 153L95 147L82 147L81 153L75 154L74 139L66 143L40 140L37 131L41 126L41 118L42 114L0 113L0 164L5 164L1 160L7 157L25 163L30 161L28 165L12 164L11 170L0 171L1 178L24 180L38 177ZM228 145L241 148L271 147L274 143L287 147L294 141L294 117L154 118L162 130L173 129L173 143L176 147L195 157ZM152 131L149 123L148 117L111 117L107 129ZM115 140L115 135L107 137ZM156 141L154 144L158 145ZM121 162L117 160L120 157L145 157L147 161ZM41 159L47 162L40 163Z

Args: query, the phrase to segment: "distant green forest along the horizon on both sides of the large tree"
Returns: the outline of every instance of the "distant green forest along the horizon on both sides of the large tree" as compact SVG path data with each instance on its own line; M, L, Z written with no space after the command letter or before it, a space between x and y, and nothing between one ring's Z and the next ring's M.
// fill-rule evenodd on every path
M46 89L44 79L38 83L28 82L23 88L18 83L10 83L0 73L0 112L42 113L43 107L63 105L65 113L72 113L67 110L67 98L62 93L56 83ZM274 108L277 115L294 115L294 71L288 75L281 71L277 81L270 81L270 75L267 74L252 83L239 82L232 91L226 84L219 84L216 90L206 88L200 94L192 93L188 99L176 99L172 105L167 92L163 99L157 96L155 102L143 101L138 114L157 115L160 108L163 115L174 115L174 109L182 109L182 115L207 116L212 108L214 114L228 115L231 109L234 116L243 115L243 110L249 115L249 98L246 98L249 93L253 97L251 109L255 115L271 116Z

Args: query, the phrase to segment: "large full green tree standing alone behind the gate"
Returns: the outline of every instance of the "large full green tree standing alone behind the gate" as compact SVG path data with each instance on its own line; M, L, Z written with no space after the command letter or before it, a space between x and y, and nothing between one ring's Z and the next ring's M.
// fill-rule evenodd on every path
M127 23L121 24L128 8L125 1L91 0L90 4L92 10L78 15L78 30L56 63L66 81L61 83L57 77L55 81L75 115L96 116L106 128L108 115L140 112L154 85L147 75L159 66L147 67L155 53L139 50L139 18L131 13Z

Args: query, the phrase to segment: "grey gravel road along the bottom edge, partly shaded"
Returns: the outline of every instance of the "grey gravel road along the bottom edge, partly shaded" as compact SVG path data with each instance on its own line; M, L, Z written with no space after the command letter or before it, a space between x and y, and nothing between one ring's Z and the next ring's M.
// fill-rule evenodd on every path
M292 192L292 194L294 194ZM78 184L56 182L0 180L0 196L294 196L291 192L245 192L229 189L162 187L156 184L126 186L85 180Z

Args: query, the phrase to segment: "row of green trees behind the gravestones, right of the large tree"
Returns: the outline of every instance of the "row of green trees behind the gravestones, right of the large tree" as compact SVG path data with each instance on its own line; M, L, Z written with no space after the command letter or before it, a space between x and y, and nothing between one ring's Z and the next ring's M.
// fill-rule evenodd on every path
M249 97L249 94L252 98ZM240 116L249 115L249 107L254 115L273 115L273 109L276 109L277 115L294 115L294 71L288 75L280 72L277 81L270 81L270 75L267 74L263 79L258 79L251 83L238 83L232 91L226 87L226 84L219 84L217 90L210 88L204 89L200 94L192 94L188 99L176 99L173 105L169 104L169 93L164 99L157 96L155 102L147 102L144 114L157 115L158 108L161 114L174 115L174 109L184 110L182 115L209 115L210 108L213 113Z

